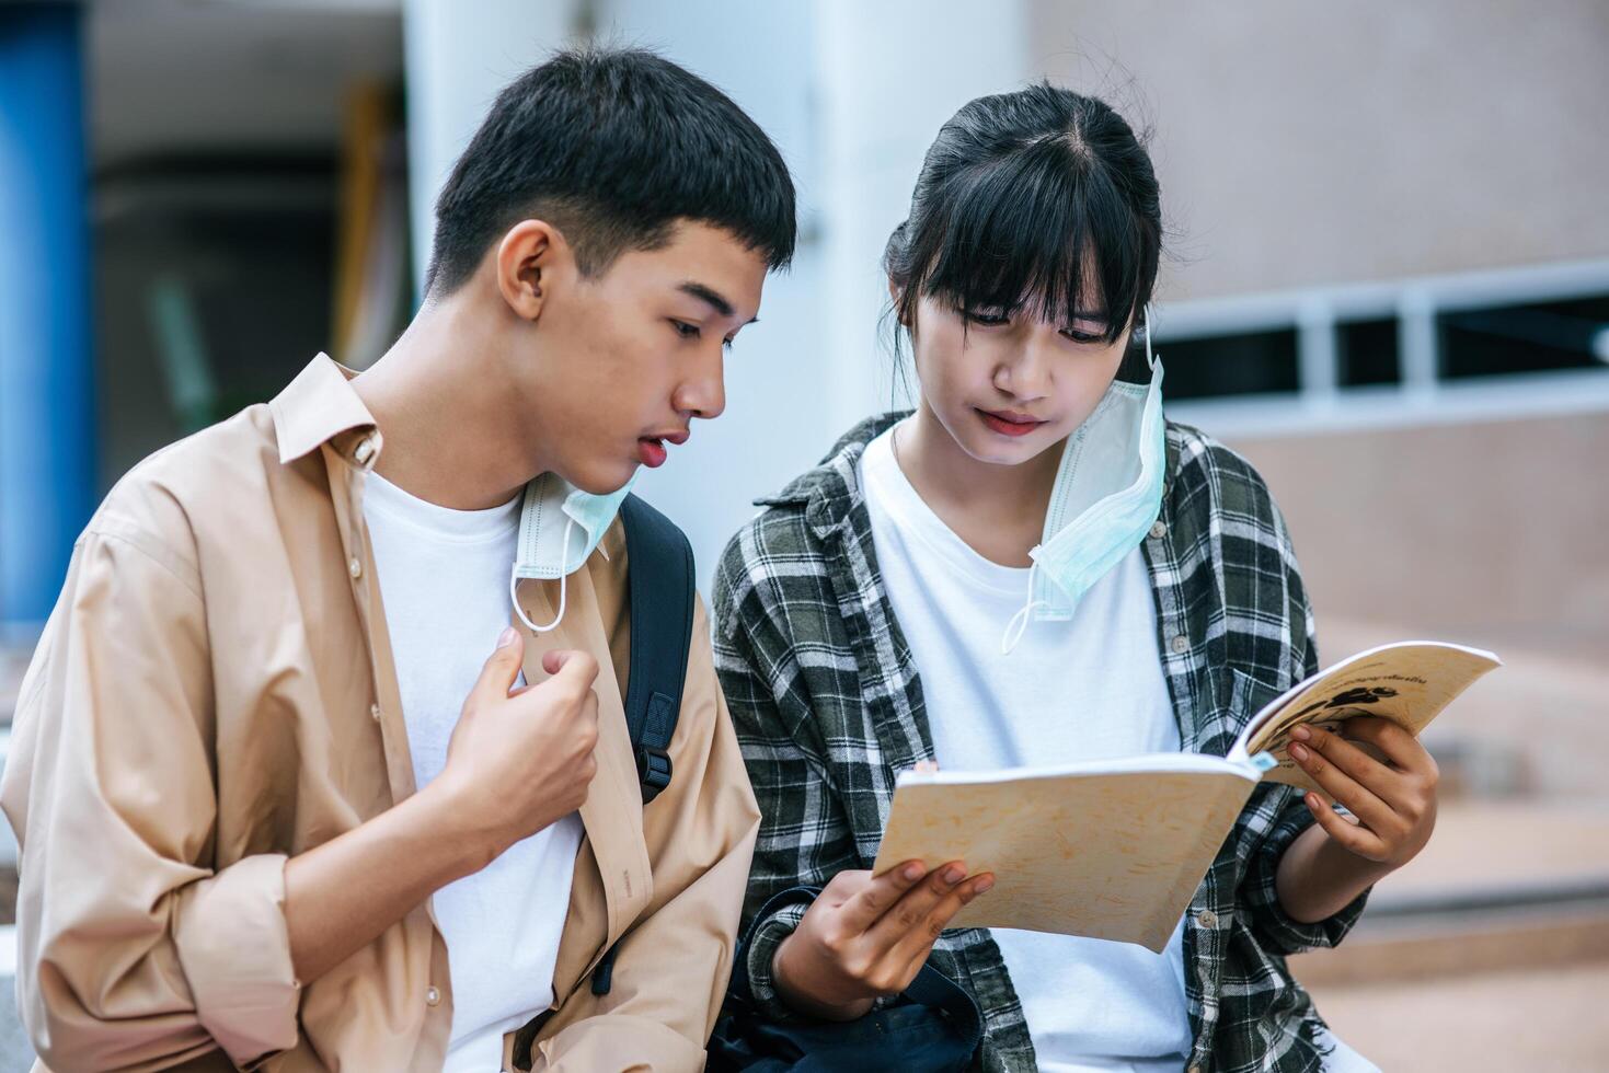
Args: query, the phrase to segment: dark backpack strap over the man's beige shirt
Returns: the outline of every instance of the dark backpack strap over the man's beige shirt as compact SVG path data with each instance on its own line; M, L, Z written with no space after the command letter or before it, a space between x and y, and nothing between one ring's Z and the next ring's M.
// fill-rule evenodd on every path
M631 598L626 729L647 804L671 785L671 735L693 632L693 549L676 523L636 495L626 497L619 513Z

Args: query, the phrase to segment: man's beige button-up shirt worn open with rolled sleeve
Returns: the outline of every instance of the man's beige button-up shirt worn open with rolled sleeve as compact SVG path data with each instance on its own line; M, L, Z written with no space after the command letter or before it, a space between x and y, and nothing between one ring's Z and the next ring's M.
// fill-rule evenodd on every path
M79 539L0 780L21 843L18 999L66 1070L439 1070L452 1026L430 904L299 985L285 861L414 793L364 528L381 452L319 356L274 402L135 467ZM730 972L758 811L695 613L644 806L626 734L626 549L570 578L542 653L599 660L599 772L536 1068L697 1070ZM521 582L531 613L557 582ZM619 944L613 986L589 973ZM496 965L476 972L497 972ZM513 1034L505 1038L505 1067Z

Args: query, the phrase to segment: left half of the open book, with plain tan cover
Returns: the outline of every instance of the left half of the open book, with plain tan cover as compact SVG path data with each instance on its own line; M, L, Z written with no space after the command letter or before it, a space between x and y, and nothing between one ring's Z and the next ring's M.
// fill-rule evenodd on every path
M1138 761L1155 761L1149 767ZM1257 771L1212 756L1078 774L901 775L874 872L965 861L994 888L949 927L1139 943L1160 952L1212 865Z

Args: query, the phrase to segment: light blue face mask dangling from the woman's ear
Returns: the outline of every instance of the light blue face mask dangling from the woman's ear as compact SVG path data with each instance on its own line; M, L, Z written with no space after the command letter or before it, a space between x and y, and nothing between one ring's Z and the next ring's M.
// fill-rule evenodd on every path
M1067 439L1051 487L1044 536L1028 552L1028 602L1006 626L1001 652L1010 653L1030 621L1065 621L1073 605L1125 555L1139 547L1162 513L1167 425L1162 420L1162 364L1150 352L1149 384L1113 380L1094 413ZM1115 491L1113 491L1115 489Z

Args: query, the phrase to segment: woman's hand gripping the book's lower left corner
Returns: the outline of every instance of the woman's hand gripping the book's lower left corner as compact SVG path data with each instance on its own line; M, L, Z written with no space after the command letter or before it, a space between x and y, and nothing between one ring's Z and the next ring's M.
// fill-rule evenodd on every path
M956 912L994 885L951 861L907 861L872 878L838 872L772 959L777 993L800 1013L848 1022L911 986Z

